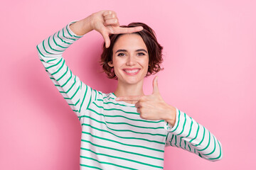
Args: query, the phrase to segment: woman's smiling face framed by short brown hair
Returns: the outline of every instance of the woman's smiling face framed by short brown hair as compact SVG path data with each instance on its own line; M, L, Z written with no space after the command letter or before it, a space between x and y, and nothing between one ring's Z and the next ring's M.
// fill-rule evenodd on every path
M112 49L112 62L118 81L137 84L143 81L149 67L149 54L142 37L138 34L120 35Z

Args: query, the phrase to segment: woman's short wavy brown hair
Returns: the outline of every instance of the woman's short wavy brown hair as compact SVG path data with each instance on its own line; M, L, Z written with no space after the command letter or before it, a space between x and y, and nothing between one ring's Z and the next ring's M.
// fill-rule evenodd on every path
M130 23L128 26L120 26L122 28L130 28L130 27L137 27L142 26L144 29L136 32L142 37L146 48L149 52L149 68L146 74L146 77L151 74L156 74L162 68L160 67L161 62L163 62L162 58L162 50L163 47L157 42L156 35L154 30L152 30L149 26L145 23ZM107 77L110 79L117 79L117 76L114 74L113 67L110 67L107 63L112 62L112 55L113 55L113 47L114 43L117 41L119 36L122 34L111 34L110 35L110 47L105 47L105 42L103 44L103 52L101 55L100 65L102 65L103 71L107 74Z

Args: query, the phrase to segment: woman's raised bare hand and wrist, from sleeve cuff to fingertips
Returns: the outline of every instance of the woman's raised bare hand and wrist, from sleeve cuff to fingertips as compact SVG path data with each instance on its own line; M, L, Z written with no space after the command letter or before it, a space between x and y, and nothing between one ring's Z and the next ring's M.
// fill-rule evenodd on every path
M105 47L110 47L110 34L134 33L143 30L142 26L134 28L119 27L117 13L114 11L99 11L70 25L76 35L85 35L91 30L97 30L105 40Z

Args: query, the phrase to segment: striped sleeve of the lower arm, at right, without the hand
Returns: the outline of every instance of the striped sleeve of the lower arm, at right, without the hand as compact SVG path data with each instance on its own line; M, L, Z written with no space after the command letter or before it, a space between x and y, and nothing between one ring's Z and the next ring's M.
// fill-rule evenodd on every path
M222 159L222 145L203 125L176 108L176 123L171 127L165 121L166 146L180 147L209 161Z

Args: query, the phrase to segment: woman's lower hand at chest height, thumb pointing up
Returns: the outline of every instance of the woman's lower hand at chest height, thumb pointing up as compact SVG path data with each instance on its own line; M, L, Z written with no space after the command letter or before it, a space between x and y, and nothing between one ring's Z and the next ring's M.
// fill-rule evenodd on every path
M122 96L116 101L137 101L135 107L140 117L147 120L166 120L172 126L176 121L176 108L169 106L159 93L157 77L153 80L153 93L149 96Z

